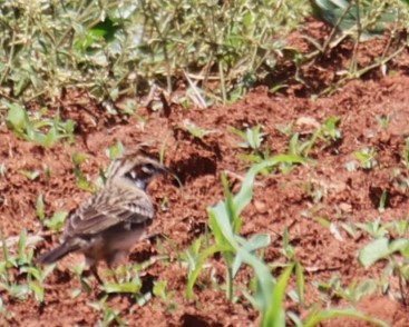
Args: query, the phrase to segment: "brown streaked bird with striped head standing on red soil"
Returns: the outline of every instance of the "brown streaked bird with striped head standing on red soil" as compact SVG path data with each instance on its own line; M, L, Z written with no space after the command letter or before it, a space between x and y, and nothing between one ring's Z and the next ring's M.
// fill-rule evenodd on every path
M40 255L36 264L53 264L68 254L81 252L99 284L97 265L110 268L146 237L155 208L146 189L156 175L167 169L146 152L136 149L114 160L106 185L69 215L62 244Z

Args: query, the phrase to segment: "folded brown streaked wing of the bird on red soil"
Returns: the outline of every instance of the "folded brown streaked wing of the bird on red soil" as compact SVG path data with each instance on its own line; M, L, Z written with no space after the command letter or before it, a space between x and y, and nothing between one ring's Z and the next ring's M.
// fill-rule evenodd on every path
M66 236L91 236L121 222L146 225L155 209L146 194L108 189L91 197L69 217Z

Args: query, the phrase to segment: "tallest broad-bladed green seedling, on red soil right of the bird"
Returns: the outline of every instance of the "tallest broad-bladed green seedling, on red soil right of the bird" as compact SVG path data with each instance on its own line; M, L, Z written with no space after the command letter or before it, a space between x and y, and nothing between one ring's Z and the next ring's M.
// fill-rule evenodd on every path
M225 176L222 176L222 182L225 189L226 199L220 201L216 206L208 208L210 226L215 239L215 244L205 248L198 254L198 258L192 260L195 269L191 270L187 281L186 296L193 297L193 286L203 269L206 259L220 252L226 264L226 296L233 300L233 279L242 265L252 267L255 274L256 286L252 295L246 295L254 306L261 310L263 315L262 326L280 326L274 325L283 323L281 311L283 289L288 283L288 278L293 270L293 266L286 268L282 278L280 279L280 287L274 288L274 281L271 276L269 267L261 258L256 256L256 250L270 244L270 237L264 235L255 235L250 239L240 236L241 230L241 212L250 204L253 195L254 179L256 175L263 169L277 166L282 162L294 159L294 156L275 156L262 164L253 166L246 177L240 191L233 196L228 188L228 181ZM300 159L300 158L299 158ZM299 164L304 162L300 159ZM199 245L196 245L196 252ZM280 315L277 315L280 313ZM273 325L271 325L273 324Z

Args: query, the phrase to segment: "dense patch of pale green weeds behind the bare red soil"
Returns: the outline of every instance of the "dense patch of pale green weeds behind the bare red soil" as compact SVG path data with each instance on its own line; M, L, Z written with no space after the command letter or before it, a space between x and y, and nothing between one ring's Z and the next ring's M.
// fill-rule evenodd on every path
M235 100L276 65L285 48L279 33L294 28L308 8L299 0L68 1L36 9L4 2L1 95L27 102L81 88L116 115L121 96L162 85L171 92L185 80L193 99ZM134 108L120 110L133 115Z

